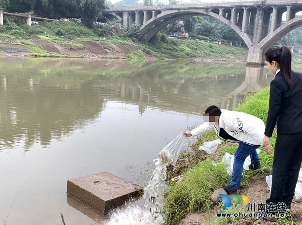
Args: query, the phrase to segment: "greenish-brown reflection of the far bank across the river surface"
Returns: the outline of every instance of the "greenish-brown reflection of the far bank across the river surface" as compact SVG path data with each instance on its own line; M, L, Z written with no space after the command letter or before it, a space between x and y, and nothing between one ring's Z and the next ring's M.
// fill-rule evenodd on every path
M70 135L93 123L107 101L199 114L244 81L242 64L123 60L0 61L0 150ZM226 98L226 97L225 97ZM227 97L228 98L228 97ZM214 100L214 102L212 101ZM232 103L229 103L229 108ZM121 109L123 110L123 109Z

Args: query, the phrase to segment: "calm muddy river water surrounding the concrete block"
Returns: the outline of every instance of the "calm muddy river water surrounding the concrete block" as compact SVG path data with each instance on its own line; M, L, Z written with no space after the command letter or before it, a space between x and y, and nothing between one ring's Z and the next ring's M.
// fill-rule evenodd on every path
M272 79L233 62L0 59L0 223L61 224L62 212L67 225L100 224L66 195L68 179L107 171L144 185L209 105L231 110Z

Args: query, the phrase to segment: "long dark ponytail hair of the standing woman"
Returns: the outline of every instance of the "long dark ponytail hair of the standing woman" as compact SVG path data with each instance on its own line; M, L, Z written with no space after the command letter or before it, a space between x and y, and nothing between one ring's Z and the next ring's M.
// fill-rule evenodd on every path
M280 65L280 72L283 75L289 89L292 89L293 80L291 74L291 53L287 46L271 47L265 53L265 60L272 63L276 61Z

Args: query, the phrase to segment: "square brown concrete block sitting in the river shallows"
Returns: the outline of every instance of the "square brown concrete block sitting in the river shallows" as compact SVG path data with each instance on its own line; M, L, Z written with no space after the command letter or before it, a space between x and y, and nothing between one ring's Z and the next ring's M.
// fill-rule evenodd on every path
M93 210L106 215L143 189L108 172L97 173L67 181L67 194Z

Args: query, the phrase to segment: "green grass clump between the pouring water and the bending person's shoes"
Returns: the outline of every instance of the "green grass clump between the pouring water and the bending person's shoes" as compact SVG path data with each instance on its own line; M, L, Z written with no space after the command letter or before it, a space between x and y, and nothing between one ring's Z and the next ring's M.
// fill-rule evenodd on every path
M166 224L176 224L189 212L204 209L214 190L229 183L231 176L223 164L213 165L206 160L185 172L185 180L167 190L165 202Z

